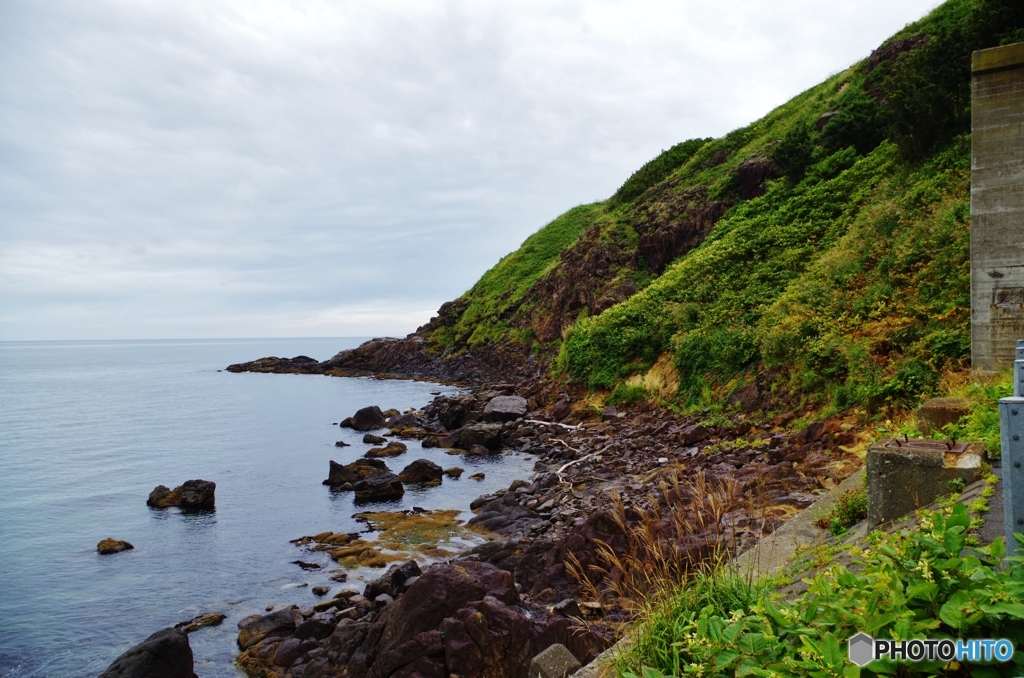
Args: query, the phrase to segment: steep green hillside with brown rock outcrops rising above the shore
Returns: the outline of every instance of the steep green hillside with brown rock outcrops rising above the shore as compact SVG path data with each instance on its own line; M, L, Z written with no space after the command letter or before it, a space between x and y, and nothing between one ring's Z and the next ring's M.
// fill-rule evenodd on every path
M552 221L432 324L432 350L528 346L621 396L657 364L681 406L915 401L970 355L971 53L1020 41L1024 3L949 0Z

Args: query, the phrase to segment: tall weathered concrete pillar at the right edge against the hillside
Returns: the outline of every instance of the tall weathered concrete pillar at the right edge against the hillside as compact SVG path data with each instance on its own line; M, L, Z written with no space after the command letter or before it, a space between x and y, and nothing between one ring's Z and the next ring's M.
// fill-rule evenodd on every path
M972 67L971 361L999 370L1024 337L1024 43Z

